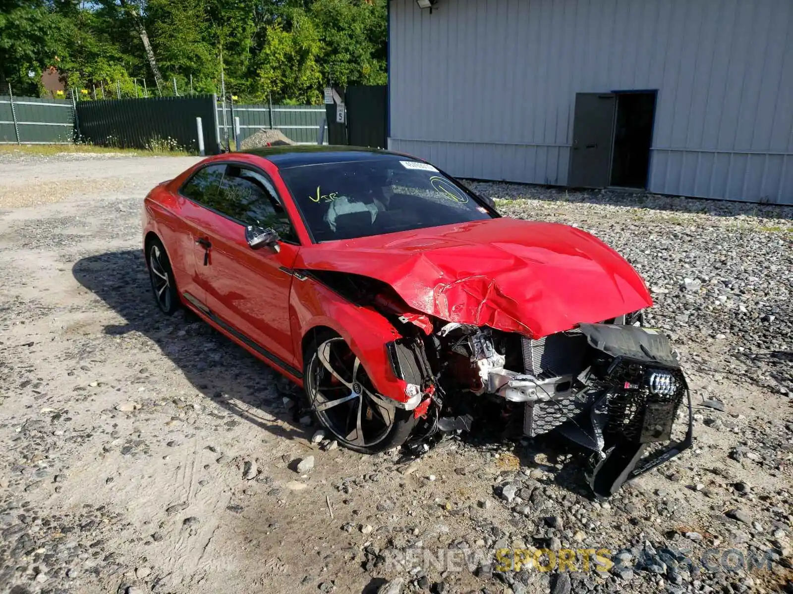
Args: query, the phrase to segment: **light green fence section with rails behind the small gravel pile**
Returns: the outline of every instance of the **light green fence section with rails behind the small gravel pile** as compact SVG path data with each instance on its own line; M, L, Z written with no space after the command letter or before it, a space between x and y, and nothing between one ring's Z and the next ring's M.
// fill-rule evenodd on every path
M239 118L239 136L235 137L235 118ZM232 105L226 104L224 125L223 107L218 105L218 136L241 143L259 130L278 129L296 143L316 143L320 126L324 126L324 105ZM324 135L327 139L327 133Z

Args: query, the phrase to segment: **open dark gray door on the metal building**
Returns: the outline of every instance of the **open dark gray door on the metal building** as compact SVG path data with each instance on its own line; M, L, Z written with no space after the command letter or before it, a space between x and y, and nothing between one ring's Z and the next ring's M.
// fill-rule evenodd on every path
M609 185L616 104L614 93L576 93L567 185L573 188Z

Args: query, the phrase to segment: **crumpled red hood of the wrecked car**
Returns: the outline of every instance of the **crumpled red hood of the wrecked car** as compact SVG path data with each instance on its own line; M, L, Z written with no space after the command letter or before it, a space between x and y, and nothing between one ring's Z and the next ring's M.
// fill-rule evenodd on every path
M623 257L556 223L488 219L321 243L294 267L370 276L425 314L531 337L653 304Z

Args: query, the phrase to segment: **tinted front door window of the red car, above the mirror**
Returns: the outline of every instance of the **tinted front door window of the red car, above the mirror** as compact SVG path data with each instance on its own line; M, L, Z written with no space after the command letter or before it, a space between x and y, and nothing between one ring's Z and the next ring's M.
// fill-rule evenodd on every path
M274 229L285 242L299 243L275 188L252 169L228 166L216 209L246 225Z

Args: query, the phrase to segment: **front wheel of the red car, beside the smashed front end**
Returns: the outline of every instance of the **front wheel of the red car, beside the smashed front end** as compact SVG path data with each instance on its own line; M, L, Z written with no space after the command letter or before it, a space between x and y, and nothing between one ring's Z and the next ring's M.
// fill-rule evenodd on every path
M408 439L416 426L412 411L389 406L389 398L374 391L343 338L317 337L306 348L304 360L308 406L331 439L363 454L390 450Z

